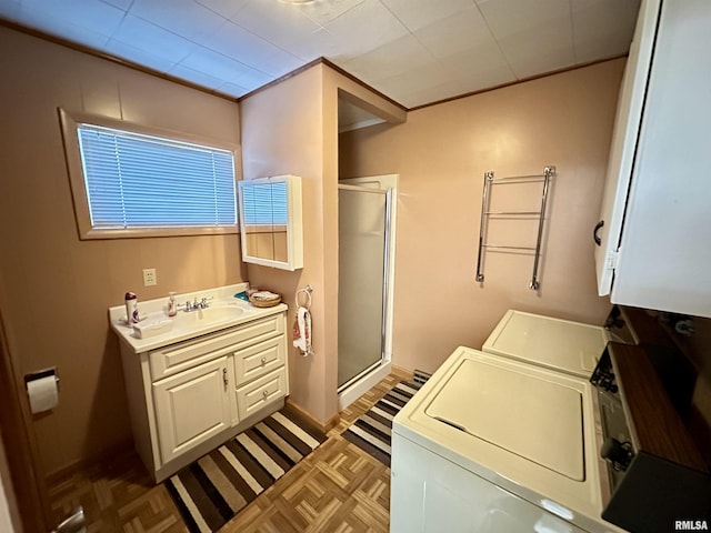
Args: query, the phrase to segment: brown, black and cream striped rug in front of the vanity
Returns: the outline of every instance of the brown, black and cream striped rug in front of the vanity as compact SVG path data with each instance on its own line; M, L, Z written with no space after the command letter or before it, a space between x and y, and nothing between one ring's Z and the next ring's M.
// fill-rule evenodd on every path
M182 469L166 487L191 532L214 532L326 439L282 409Z

